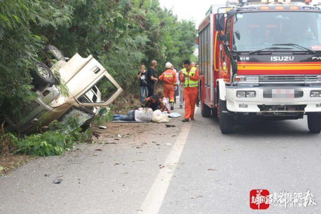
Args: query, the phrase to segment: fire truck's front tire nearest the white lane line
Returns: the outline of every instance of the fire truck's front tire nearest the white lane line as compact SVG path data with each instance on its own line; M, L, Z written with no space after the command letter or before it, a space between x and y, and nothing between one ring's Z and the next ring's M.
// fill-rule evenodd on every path
M220 129L222 134L230 134L233 132L233 123L234 123L234 118L232 115L229 115L226 113L227 108L226 108L226 101L220 100L219 101L220 105Z

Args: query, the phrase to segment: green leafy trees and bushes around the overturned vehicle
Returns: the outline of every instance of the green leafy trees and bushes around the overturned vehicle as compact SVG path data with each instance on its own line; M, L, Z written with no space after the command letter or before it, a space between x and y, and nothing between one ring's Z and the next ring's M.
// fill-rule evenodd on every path
M149 66L156 60L157 74L167 61L180 67L185 59L191 59L195 40L195 24L178 21L158 0L2 0L0 123L6 116L17 115L23 104L36 96L31 90L30 69L41 61L48 44L68 57L92 54L130 94L138 89L135 76L140 64ZM108 116L94 122L105 119ZM2 135L2 140L6 145L11 142L9 150L17 146L22 153L61 154L84 137L78 128L67 134L62 132L65 128L23 140Z

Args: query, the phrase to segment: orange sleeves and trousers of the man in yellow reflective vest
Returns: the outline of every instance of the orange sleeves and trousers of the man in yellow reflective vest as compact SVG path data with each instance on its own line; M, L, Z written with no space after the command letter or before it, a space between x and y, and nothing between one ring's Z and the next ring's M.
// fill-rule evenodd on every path
M190 74L190 70L187 71ZM187 78L187 77L186 77ZM193 76L189 76L190 80L198 81L199 80L199 70L196 69L195 74ZM183 78L183 72L180 76L181 82L184 83L185 80ZM185 119L193 119L195 112L195 105L197 102L198 95L198 87L185 87L184 91L184 100L185 100Z

